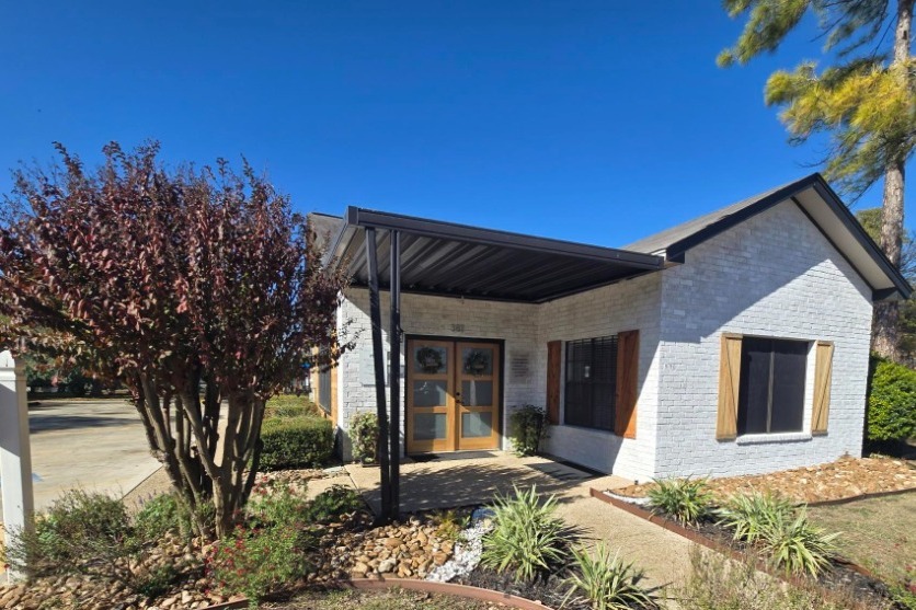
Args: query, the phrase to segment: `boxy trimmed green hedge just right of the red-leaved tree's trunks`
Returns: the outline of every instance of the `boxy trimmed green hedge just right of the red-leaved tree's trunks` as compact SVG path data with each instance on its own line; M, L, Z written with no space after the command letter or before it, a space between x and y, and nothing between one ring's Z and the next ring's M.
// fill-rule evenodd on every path
M261 426L261 470L318 468L331 459L334 431L329 419L305 417L264 419Z

